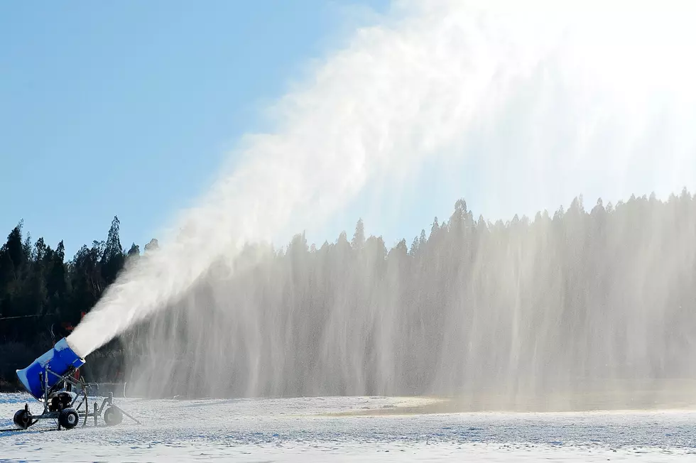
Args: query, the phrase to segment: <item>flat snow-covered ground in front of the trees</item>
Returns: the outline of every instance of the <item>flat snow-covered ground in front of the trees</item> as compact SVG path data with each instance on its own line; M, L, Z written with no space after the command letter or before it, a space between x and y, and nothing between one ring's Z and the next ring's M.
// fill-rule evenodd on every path
M0 394L0 427L26 401L40 411ZM142 424L57 432L40 421L0 432L0 462L696 462L696 411L400 412L418 401L116 399Z

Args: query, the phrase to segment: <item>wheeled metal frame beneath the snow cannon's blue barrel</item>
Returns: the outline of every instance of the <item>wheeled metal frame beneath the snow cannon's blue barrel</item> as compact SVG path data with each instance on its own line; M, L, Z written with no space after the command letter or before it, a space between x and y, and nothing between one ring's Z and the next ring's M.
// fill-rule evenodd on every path
M48 368L48 365L44 367L43 372L39 374L40 381L43 384L43 396L40 401L43 402L43 413L40 415L32 415L29 411L29 404L25 403L22 410L18 410L14 415L14 423L20 429L27 429L28 427L35 425L38 420L58 420L58 430L61 427L65 429L72 429L80 423L80 418L83 418L82 427L87 425L87 418L94 418L94 426L98 425L98 418L104 414L104 423L107 426L118 425L123 420L123 415L126 415L131 420L136 423L141 424L138 420L133 418L131 415L126 413L124 410L119 408L114 404L114 395L109 392L109 396L104 398L102 401L102 406L97 406L97 401L94 401L94 408L89 411L89 400L87 398L87 384L85 380L80 377L80 379L75 379L73 376L77 369L71 366L65 374L57 374ZM53 386L48 387L48 375L53 375L58 378ZM75 396L70 401L70 405L65 408L60 408L60 410L49 410L49 403L53 398L53 394L58 393L62 389L62 384L67 383L75 388L80 388L81 393L75 393ZM75 403L79 398L82 398L80 403L75 406ZM84 410L80 410L82 405L85 405ZM109 405L108 408L107 405ZM106 408L106 410L104 410Z

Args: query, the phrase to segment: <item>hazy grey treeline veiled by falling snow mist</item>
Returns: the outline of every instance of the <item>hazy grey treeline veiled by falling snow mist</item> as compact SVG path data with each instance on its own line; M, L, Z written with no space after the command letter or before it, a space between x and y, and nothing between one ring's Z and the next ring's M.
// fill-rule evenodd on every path
M128 334L139 393L543 396L696 378L686 190L495 223L460 200L410 244L358 222L352 239L300 234L234 266Z

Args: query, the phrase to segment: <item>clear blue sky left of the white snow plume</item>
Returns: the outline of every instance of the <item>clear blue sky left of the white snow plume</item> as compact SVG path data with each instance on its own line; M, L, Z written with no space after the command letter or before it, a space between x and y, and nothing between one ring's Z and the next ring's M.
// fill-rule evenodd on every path
M33 240L63 239L72 257L106 239L118 215L123 246L142 249L210 185L228 148L308 60L387 7L1 2L3 238L23 219Z

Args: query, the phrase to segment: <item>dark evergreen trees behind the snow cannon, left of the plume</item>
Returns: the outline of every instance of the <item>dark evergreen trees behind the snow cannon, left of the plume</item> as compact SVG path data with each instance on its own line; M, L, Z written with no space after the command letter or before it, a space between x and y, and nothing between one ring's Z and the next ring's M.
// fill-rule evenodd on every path
M53 249L43 238L32 242L30 234L24 236L23 222L10 231L0 247L0 383L4 388L16 384L16 369L70 334L126 261L140 256L136 244L127 250L121 247L119 226L114 217L106 241L82 246L72 260L66 260L62 241ZM156 246L153 240L146 249Z

